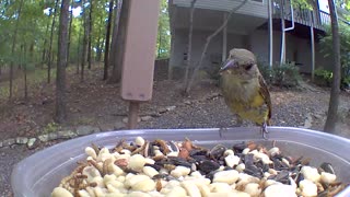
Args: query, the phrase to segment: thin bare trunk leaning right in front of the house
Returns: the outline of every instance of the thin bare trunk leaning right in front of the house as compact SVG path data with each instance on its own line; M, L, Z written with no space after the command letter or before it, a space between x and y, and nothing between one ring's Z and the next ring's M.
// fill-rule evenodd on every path
M203 50L202 50L202 53L201 53L200 59L199 59L198 63L196 65L195 70L194 70L194 73L191 74L191 77L190 77L190 79L188 80L188 83L187 83L187 85L186 85L185 94L189 94L189 91L190 91L191 85L192 85L192 83L194 83L194 81L195 81L195 78L196 78L196 76L197 76L197 72L199 71L199 69L200 69L200 67L201 67L201 65L202 65L202 61L203 61L203 59L205 59L205 57L206 57L206 55L207 55L207 49L208 49L208 46L209 46L211 39L212 39L213 37L215 37L215 36L228 25L228 22L229 22L229 20L231 19L232 14L233 14L234 12L236 12L237 10L240 10L247 1L248 1L248 0L244 0L244 1L241 2L240 5L237 5L236 8L233 8L233 9L230 11L230 13L228 14L226 20L222 23L222 25L221 25L214 33L212 33L210 36L207 37L207 42L206 42L206 44L205 44L205 47L203 47Z

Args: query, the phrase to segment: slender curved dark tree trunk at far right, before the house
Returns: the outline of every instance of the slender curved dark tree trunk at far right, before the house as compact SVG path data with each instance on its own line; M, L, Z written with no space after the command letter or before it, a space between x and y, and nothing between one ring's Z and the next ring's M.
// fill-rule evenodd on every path
M334 50L334 67L332 67L332 84L330 91L330 100L328 106L327 120L324 130L327 132L335 132L336 123L338 119L338 105L340 93L340 37L337 10L334 0L328 0L330 21L331 21L331 37Z

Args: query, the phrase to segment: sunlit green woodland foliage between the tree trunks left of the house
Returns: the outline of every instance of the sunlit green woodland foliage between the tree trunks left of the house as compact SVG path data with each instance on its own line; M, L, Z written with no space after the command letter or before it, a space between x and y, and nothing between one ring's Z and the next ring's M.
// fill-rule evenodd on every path
M19 61L22 56L21 46L23 45L26 46L27 57L31 57L33 65L48 61L47 50L49 48L50 31L55 14L55 1L23 0L20 12L21 1L22 0L0 1L0 67L10 63L13 63L14 66L20 65L21 62ZM78 62L80 60L84 28L83 15L89 15L91 7L93 7L91 32L92 57L96 57L97 55L103 56L106 22L108 18L108 2L109 0L86 1L84 5L82 4L82 1L70 2L72 3L72 9L80 8L82 11L79 14L72 15L69 51L70 62ZM168 58L170 56L171 35L167 9L167 0L161 0L159 37L156 43L158 58ZM55 26L52 28L54 38L51 39L51 58L54 59L54 65L57 60L59 9L57 12ZM15 37L15 47L12 53L11 47L14 40L14 32L18 32L18 34ZM31 46L33 46L33 48L31 48Z

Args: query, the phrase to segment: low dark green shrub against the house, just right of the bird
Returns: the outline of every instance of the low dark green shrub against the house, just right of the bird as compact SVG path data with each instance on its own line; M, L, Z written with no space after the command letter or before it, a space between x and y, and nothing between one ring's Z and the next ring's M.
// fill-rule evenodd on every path
M301 76L294 63L284 63L269 68L267 63L258 62L259 70L268 84L294 88L299 85Z

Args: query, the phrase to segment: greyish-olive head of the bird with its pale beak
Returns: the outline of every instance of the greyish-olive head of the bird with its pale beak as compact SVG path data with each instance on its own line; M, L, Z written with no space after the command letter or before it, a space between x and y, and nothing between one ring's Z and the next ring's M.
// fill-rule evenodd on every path
M242 80L256 78L259 73L254 54L247 49L234 48L220 69L220 74L230 74Z

